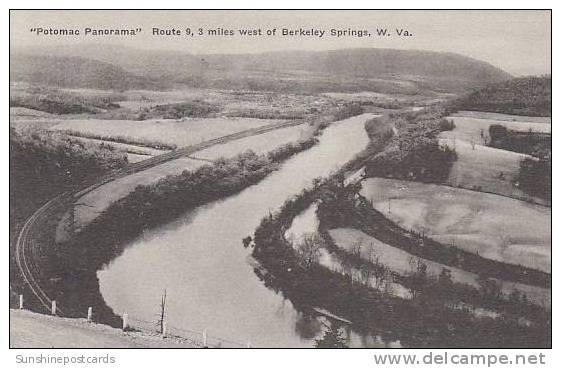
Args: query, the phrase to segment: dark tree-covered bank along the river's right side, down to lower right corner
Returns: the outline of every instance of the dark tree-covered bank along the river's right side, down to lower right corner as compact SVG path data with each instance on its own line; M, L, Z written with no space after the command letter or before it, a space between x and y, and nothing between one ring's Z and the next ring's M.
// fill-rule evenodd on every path
M411 276L399 279L413 295L412 300L405 300L394 296L391 290L376 290L354 279L352 274L320 265L314 259L314 248L296 249L286 240L286 230L316 200L332 197L332 189L329 182L324 182L316 190L302 192L287 201L279 212L264 218L256 229L253 257L261 265L256 273L267 287L281 292L297 308L324 308L352 321L353 328L400 340L405 346L549 346L550 317L536 311L537 307L528 306L526 311L516 309L516 302L511 300L514 310L505 310L500 317L475 317L469 309L449 307L449 303L458 303L457 293L445 292L445 288L456 290L457 285L446 283L444 278L431 281L422 267L417 267ZM351 193L348 197L354 196ZM352 257L348 255L348 258ZM367 262L360 264L356 258L351 261L365 270ZM369 275L375 276L376 269ZM458 290L461 294L463 288ZM353 302L349 303L350 300ZM516 312L533 317L531 323L521 325Z

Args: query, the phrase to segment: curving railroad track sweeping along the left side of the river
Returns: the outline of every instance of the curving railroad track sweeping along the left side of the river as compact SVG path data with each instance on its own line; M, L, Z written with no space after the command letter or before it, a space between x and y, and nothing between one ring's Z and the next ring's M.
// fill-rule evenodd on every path
M57 213L60 213L59 211L66 211L72 203L83 195L113 180L161 165L167 161L192 155L197 151L201 151L217 144L224 144L230 141L264 134L277 129L297 126L304 123L305 121L301 120L289 121L275 125L266 125L263 127L248 129L223 137L210 139L199 144L154 156L144 161L129 164L123 169L111 172L93 183L82 183L80 188L64 192L52 198L27 219L18 235L15 249L15 259L24 282L31 290L31 293L37 298L39 304L44 307L48 313L50 313L52 299L48 296L47 292L45 292L44 286L41 285L40 268L36 262L37 254L41 250L41 244L38 241L38 236L40 236L43 229L42 224L46 220L53 218ZM57 307L57 314L60 316L65 315L64 311L59 307Z

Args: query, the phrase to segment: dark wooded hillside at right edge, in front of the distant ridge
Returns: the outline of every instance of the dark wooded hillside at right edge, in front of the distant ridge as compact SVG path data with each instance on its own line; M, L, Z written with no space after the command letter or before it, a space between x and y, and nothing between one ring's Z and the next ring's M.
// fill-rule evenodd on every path
M551 75L491 84L460 98L456 103L460 110L551 116Z

